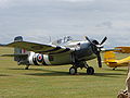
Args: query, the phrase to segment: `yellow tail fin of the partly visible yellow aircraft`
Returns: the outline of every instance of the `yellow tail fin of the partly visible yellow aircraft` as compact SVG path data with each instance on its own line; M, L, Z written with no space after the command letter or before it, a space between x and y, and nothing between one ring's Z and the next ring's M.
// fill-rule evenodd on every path
M115 61L115 60L116 60L116 56L114 51L106 51L104 53L104 62L109 62L109 61Z

